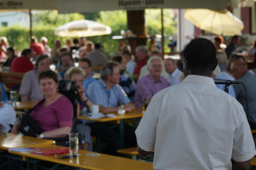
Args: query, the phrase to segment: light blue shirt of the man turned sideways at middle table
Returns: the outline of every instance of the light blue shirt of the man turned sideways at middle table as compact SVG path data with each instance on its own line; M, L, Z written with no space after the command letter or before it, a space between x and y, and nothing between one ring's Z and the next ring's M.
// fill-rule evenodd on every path
M89 86L88 95L95 105L117 107L118 105L125 105L130 102L127 94L125 94L119 84L114 85L108 92L105 82L101 79Z

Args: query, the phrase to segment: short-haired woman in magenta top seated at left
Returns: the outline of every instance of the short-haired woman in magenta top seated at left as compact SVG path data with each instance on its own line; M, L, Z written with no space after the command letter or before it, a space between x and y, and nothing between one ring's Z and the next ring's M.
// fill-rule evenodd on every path
M54 71L41 72L38 80L45 100L31 111L31 116L44 130L37 138L65 137L71 133L73 105L58 92L58 77Z

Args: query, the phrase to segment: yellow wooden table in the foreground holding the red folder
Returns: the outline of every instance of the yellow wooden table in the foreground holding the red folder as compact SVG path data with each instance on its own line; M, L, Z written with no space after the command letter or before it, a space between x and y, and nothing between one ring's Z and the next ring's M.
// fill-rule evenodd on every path
M63 146L51 145L51 146L42 146L37 147L41 150L53 150L65 148ZM33 153L34 151L24 151L17 152L13 150L9 150L9 153L16 154L19 156L26 156L26 158L32 158L34 161L43 160L43 161L51 161L54 163L58 163L61 165L67 165L71 167L80 167L85 169L93 169L93 170L139 170L139 169L153 169L153 164L145 161L135 161L128 158L118 157L118 156L109 156L101 153L90 152L87 150L79 150L76 158L70 159L60 159L58 156L45 156L45 155L37 155ZM66 155L66 154L64 154ZM27 159L30 162L30 159ZM33 164L37 166L37 163ZM30 166L29 166L30 167Z

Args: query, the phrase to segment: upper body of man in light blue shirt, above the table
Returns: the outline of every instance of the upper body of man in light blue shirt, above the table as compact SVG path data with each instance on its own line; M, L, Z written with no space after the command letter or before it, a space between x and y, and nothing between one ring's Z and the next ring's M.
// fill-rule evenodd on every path
M103 65L100 77L100 80L93 82L88 88L88 95L95 105L100 105L100 111L117 112L118 104L123 105L125 111L134 111L134 104L118 84L121 77L118 63L111 61Z

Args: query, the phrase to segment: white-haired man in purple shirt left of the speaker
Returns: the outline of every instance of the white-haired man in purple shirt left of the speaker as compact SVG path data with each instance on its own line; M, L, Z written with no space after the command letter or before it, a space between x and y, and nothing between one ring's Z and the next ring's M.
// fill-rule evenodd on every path
M141 108L144 99L151 99L153 95L161 91L163 88L168 88L171 83L161 76L162 59L153 56L147 61L149 74L139 78L135 90L135 106Z

